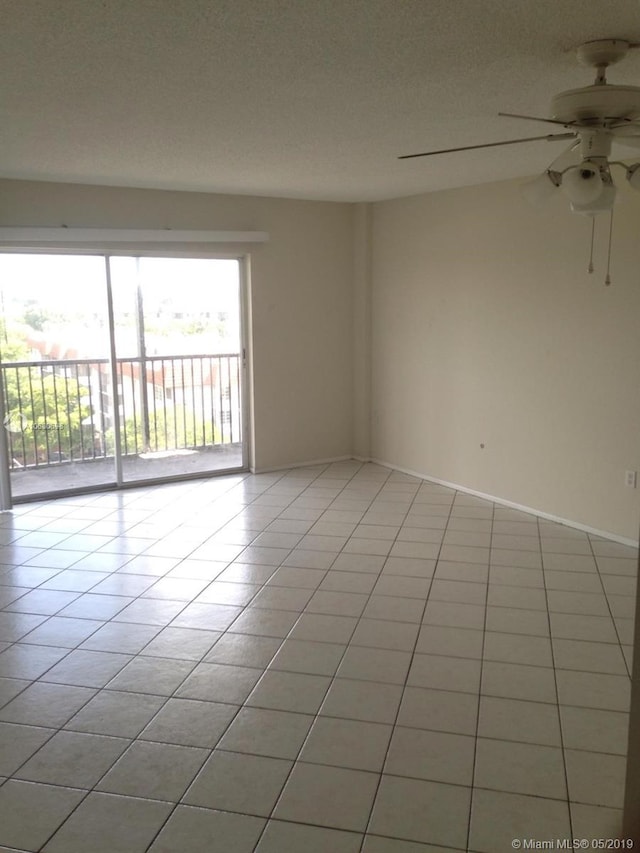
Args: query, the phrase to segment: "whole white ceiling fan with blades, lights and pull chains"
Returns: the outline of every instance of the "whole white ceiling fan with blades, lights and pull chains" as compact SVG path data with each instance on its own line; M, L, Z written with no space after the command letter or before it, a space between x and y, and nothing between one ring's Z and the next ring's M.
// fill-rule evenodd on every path
M472 148L514 145L536 139L573 140L569 148L556 158L542 175L522 187L522 194L529 202L540 204L556 196L556 191L560 189L568 199L572 213L592 217L589 272L593 272L595 217L600 213L609 213L609 247L605 283L610 284L613 206L617 194L611 167L621 167L629 185L634 190L640 191L640 162L628 164L609 158L613 145L640 148L640 86L612 85L607 82L606 71L610 65L624 59L631 48L638 47L640 44L633 44L625 39L598 39L580 45L576 49L578 61L582 65L595 68L596 79L591 86L569 89L552 98L550 118L498 113L508 118L560 125L568 132L426 151L422 154L405 154L400 159L466 151Z

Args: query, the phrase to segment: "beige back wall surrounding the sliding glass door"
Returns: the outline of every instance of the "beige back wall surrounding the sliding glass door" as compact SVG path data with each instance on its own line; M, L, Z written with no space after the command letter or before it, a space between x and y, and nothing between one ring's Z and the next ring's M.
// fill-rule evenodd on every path
M269 232L268 243L246 247L258 469L351 453L353 213L325 202L0 181L1 226Z

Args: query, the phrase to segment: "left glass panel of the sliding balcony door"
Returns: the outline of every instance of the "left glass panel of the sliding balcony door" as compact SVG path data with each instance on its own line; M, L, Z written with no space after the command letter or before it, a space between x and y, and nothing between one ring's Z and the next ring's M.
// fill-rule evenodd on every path
M115 482L105 259L0 254L13 497Z

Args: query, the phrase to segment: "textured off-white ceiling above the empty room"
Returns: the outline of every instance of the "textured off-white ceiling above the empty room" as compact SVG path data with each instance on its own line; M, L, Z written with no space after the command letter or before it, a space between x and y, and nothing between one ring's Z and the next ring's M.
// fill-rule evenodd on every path
M638 0L0 0L0 176L363 201L528 175ZM610 72L640 84L640 51Z

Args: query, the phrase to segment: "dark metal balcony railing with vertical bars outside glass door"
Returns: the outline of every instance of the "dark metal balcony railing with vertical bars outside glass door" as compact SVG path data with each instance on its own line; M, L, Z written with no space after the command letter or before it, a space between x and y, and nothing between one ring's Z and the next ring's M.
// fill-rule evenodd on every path
M13 470L203 450L242 440L239 354L0 365ZM114 400L115 392L115 400Z

